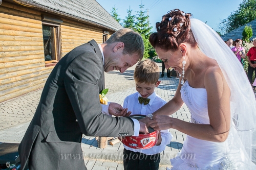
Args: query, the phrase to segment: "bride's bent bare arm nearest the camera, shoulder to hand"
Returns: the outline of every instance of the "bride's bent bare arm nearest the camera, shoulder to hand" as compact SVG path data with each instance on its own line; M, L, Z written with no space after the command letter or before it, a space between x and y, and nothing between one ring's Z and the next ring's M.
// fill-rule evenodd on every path
M155 130L174 128L198 139L223 142L230 128L230 90L220 69L206 71L204 84L207 91L210 124L193 124L168 116L157 115L150 121Z

